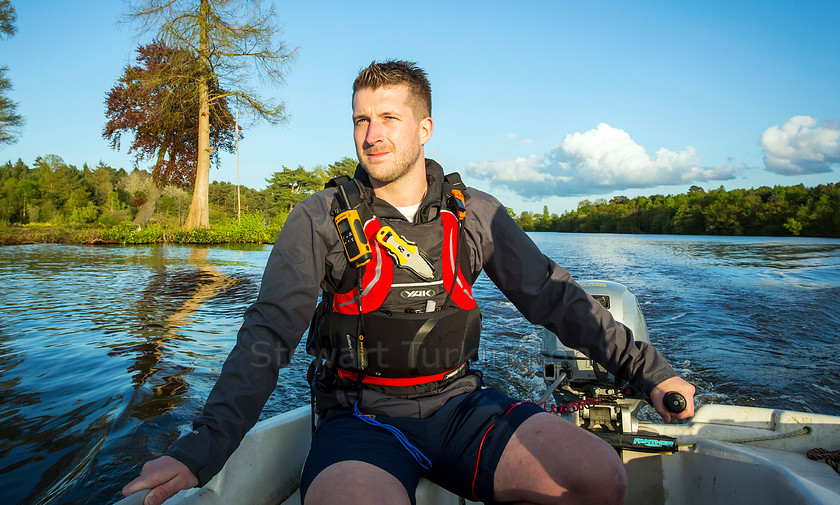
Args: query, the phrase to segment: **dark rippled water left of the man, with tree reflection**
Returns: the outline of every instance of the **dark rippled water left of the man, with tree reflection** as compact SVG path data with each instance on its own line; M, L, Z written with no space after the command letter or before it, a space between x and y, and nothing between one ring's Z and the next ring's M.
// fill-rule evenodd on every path
M138 452L132 436L149 429L146 421L165 417L189 398L194 367L181 351L191 341L203 345L185 330L208 330L197 317L202 307L240 287L240 296L229 299L238 305L231 318L239 317L243 303L237 298L247 291L252 299L256 291L253 276L219 269L208 253L48 247L33 255L0 249L2 284L26 287L0 299L4 501L41 504L62 495L63 503L110 501L92 499L91 491L95 496L99 490L65 493L96 465L114 466L109 455L124 459ZM219 329L230 337L232 326Z

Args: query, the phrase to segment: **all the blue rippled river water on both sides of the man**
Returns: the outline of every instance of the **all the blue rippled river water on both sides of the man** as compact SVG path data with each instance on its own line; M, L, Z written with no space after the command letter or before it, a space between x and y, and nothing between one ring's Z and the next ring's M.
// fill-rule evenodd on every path
M840 415L840 240L531 234L576 279L626 284L699 403ZM269 246L0 248L0 489L101 504L187 429ZM541 331L482 276L480 367L537 398ZM263 417L308 403L299 350Z

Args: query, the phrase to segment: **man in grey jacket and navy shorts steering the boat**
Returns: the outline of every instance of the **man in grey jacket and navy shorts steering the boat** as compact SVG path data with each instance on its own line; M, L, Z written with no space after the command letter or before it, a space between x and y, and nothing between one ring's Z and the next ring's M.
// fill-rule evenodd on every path
M486 272L529 321L648 395L666 421L693 415L694 387L540 253L496 199L425 159L433 121L422 69L372 63L352 105L354 178L289 214L203 415L123 492L151 488L144 503L155 505L208 482L310 327L318 423L305 504L414 503L420 477L486 503L623 503L627 477L609 445L482 387L469 366L481 328L472 283ZM667 392L687 399L684 412L666 410Z

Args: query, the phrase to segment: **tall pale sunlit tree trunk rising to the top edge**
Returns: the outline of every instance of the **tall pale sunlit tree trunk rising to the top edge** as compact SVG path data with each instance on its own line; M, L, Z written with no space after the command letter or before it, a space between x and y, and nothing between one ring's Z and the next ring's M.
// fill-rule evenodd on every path
M201 0L199 59L202 72L199 76L199 110L198 110L198 165L195 173L195 188L190 214L187 216L186 228L210 228L210 91L207 76L210 65L207 60L207 24L209 8L207 0Z

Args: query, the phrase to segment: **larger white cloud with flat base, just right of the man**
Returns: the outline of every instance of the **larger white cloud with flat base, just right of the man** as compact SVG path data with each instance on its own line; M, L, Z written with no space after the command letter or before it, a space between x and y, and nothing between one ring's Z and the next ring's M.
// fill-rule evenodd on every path
M546 155L470 163L465 171L535 198L733 179L736 169L699 166L693 147L679 152L661 148L651 157L627 132L601 123L587 132L566 135Z

